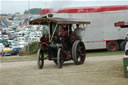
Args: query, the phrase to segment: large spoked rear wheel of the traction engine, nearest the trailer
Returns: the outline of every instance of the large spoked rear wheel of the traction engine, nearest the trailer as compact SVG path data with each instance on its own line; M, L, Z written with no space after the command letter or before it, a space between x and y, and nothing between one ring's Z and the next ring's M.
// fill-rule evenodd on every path
M76 65L83 64L86 58L84 43L80 40L74 42L72 47L72 58Z

